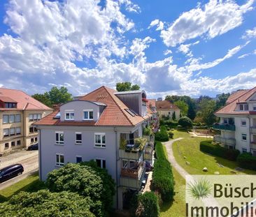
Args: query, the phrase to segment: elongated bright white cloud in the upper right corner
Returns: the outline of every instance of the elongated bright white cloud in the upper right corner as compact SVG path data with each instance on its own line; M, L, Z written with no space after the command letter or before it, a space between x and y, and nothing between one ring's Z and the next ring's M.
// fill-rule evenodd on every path
M239 27L244 13L253 9L253 2L249 0L239 6L233 0L210 0L204 7L198 6L180 15L168 29L161 31L161 36L164 43L171 47L199 36L215 38Z

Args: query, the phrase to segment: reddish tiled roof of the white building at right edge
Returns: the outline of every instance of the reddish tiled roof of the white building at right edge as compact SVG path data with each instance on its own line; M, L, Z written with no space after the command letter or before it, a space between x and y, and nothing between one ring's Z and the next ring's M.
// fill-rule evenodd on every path
M236 111L236 105L239 103L245 103L253 94L256 93L256 87L247 91L237 91L229 96L229 104L220 108L215 114L249 114L249 111L240 112ZM233 101L231 100L233 99Z

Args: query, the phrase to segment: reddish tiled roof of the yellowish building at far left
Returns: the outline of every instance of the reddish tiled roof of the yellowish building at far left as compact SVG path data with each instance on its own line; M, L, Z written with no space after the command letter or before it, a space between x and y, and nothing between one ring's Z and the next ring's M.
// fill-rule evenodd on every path
M8 103L17 102L17 108L6 109L5 107L1 107L0 110L52 110L50 107L43 105L43 103L40 103L23 91L0 88L0 100L8 100L8 98L13 100Z

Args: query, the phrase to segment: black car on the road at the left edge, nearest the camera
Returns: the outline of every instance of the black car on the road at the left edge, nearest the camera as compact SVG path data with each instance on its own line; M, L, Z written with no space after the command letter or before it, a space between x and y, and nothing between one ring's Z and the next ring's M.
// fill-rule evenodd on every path
M4 167L0 170L0 183L16 177L24 172L24 168L20 163Z

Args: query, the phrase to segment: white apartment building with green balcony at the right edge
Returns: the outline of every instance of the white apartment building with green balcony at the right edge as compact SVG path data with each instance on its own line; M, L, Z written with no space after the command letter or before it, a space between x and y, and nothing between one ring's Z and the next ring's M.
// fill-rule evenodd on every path
M256 87L232 93L227 105L215 112L220 123L213 128L221 130L221 135L214 137L229 149L251 152L256 156Z

